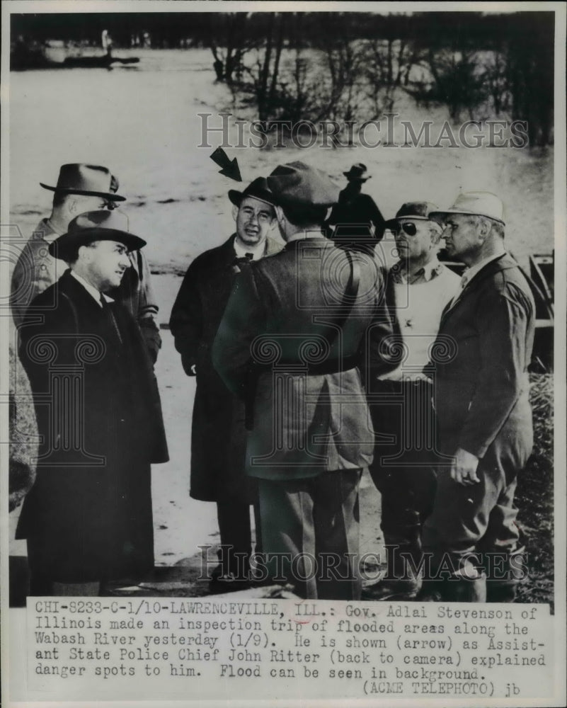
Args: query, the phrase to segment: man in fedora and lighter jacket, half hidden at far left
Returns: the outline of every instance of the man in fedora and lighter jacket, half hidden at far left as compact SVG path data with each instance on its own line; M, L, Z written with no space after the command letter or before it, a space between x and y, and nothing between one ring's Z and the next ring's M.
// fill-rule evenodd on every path
M41 219L26 242L13 270L11 311L18 326L23 321L36 295L61 277L67 264L53 258L48 250L57 236L67 232L69 222L83 212L114 209L125 197L118 194L118 179L100 165L71 163L62 165L55 187L43 184L54 193L50 217ZM137 321L150 358L156 361L161 337L156 323L158 307L151 287L149 265L142 251L128 253L130 268L120 286L113 291L115 299L125 304Z

